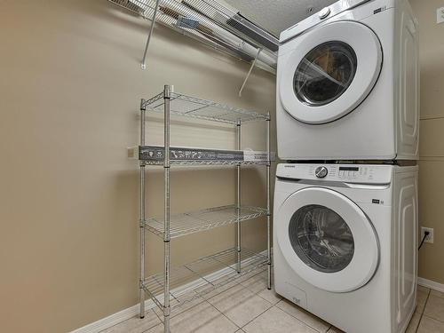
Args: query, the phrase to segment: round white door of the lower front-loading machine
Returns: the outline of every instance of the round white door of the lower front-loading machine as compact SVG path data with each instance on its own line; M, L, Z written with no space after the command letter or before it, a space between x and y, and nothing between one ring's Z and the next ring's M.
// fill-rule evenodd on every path
M377 234L358 205L335 191L308 187L282 203L274 224L289 266L332 292L361 288L379 262Z

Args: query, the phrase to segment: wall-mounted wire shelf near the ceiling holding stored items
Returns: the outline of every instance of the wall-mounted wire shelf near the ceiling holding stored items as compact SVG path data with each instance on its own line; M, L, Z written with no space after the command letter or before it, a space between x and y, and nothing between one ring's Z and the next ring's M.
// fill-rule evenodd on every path
M153 20L155 0L109 1ZM260 50L259 67L276 67L276 36L215 0L161 0L156 22L247 62Z

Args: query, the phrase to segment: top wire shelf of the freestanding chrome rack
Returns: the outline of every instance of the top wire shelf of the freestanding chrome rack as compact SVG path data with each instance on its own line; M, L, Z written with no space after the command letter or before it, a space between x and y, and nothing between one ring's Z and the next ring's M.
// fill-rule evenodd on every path
M147 111L163 113L163 92L142 104ZM269 115L247 111L237 107L213 102L207 99L197 99L181 93L170 93L170 113L191 118L204 119L218 123L245 123L267 120Z

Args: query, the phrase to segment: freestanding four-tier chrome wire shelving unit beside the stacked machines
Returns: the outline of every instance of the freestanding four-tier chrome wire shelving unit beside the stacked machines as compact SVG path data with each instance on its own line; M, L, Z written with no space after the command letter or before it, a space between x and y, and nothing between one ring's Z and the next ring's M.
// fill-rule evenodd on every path
M258 270L266 270L267 287L271 289L271 210L270 210L270 115L245 111L205 99L195 99L172 91L172 86L165 85L163 92L152 99L140 102L140 146L146 147L147 112L163 112L164 146L162 163L149 163L139 155L140 167L140 318L145 315L145 300L150 297L163 312L164 332L170 332L170 313L181 305L188 304L198 297L226 284L239 281L241 277ZM170 155L170 115L181 115L217 123L230 123L236 128L237 154L241 152L242 123L253 121L266 122L266 160L248 161L248 164L266 166L266 208L243 207L241 205L241 166L242 161L217 160L180 160L174 161ZM174 165L213 165L231 164L236 166L236 202L233 205L214 207L181 214L170 214L170 167ZM146 168L149 165L163 165L164 210L162 217L146 216ZM242 221L266 217L267 250L266 255L242 248ZM236 225L236 245L193 263L170 267L170 241L173 238L210 230L219 226ZM145 274L145 236L151 232L163 239L163 274L146 276ZM186 286L186 293L177 289ZM176 291L172 291L176 290Z

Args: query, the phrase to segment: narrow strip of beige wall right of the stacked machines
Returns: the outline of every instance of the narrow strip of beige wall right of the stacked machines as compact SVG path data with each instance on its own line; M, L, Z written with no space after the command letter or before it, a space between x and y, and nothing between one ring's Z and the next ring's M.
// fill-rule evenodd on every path
M420 26L421 122L419 225L434 228L434 243L419 253L419 276L444 283L444 24L442 0L410 0Z

